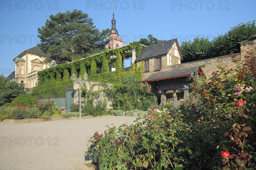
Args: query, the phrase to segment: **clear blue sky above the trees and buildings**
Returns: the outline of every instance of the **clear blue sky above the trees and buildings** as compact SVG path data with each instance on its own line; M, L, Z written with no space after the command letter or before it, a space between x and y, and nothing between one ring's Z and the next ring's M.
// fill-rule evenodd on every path
M112 6L116 28L125 43L152 34L160 40L224 34L239 23L256 20L256 0L0 0L0 70L8 76L12 61L40 40L38 28L49 15L78 9L99 30L111 28Z

